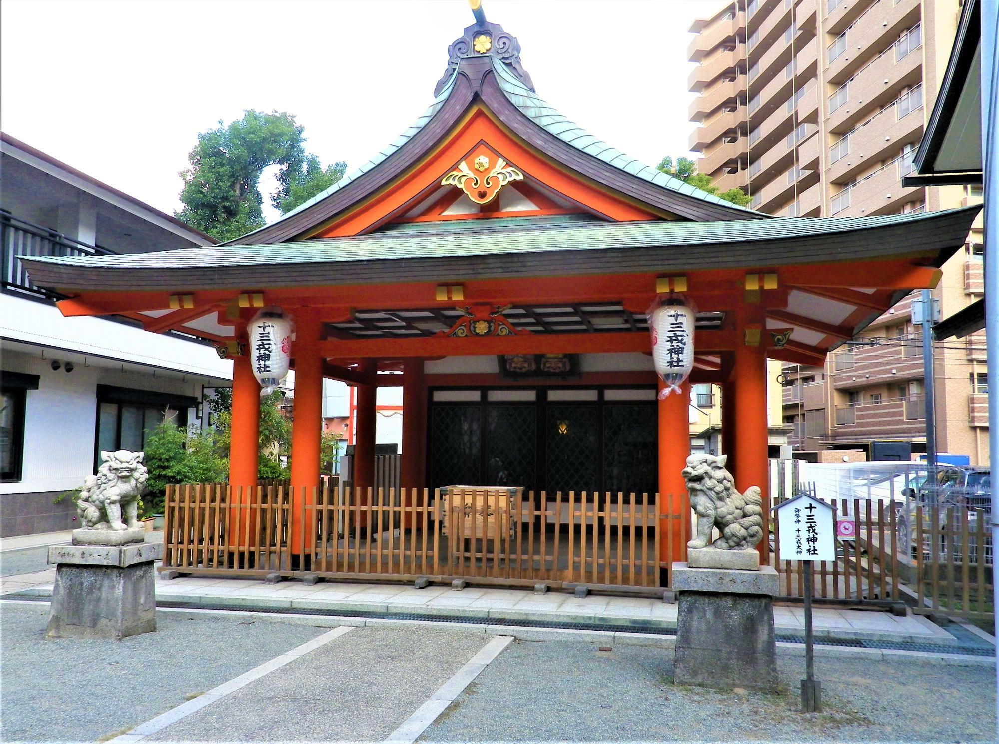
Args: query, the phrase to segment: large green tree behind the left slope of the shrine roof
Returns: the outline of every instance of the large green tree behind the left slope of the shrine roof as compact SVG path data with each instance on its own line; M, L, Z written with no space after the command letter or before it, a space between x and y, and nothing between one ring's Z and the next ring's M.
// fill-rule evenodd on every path
M306 154L304 128L287 112L249 110L243 118L198 135L181 172L184 208L177 216L220 240L264 225L260 177L280 166L271 203L282 212L298 205L343 176L346 166L324 169ZM343 166L343 167L342 167Z

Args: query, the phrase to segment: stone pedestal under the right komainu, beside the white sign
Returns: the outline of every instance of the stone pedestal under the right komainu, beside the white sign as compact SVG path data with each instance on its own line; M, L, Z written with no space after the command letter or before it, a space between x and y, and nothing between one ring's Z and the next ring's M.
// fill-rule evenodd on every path
M673 681L775 692L773 597L777 571L690 568L673 563L679 597Z

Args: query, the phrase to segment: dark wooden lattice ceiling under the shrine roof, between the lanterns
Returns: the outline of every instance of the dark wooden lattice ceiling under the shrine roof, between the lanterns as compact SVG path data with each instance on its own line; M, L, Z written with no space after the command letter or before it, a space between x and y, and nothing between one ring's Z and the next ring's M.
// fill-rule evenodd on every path
M329 335L337 338L387 338L434 336L450 330L467 317L460 308L421 310L359 310L353 320L328 323ZM620 304L570 304L513 306L502 317L517 330L531 333L611 333L648 331L644 313L625 310ZM722 312L697 314L698 330L717 329Z

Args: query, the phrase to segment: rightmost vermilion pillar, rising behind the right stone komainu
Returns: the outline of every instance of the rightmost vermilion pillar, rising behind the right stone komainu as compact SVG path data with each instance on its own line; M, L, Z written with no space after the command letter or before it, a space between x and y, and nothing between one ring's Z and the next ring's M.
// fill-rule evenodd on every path
M739 326L731 380L735 393L732 412L736 463L732 475L735 476L735 488L740 493L745 493L750 486L759 486L763 500L763 524L769 524L766 349L761 336L762 332L758 328ZM757 343L747 344L747 340L755 340ZM766 564L769 556L769 540L766 536L757 550L760 553L760 562Z

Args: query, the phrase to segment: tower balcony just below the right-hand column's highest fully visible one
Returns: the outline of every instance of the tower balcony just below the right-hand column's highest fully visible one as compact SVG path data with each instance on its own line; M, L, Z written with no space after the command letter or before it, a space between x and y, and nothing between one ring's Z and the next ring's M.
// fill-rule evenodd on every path
M918 143L923 131L922 93L922 86L907 91L829 146L828 182L849 182L868 164Z

